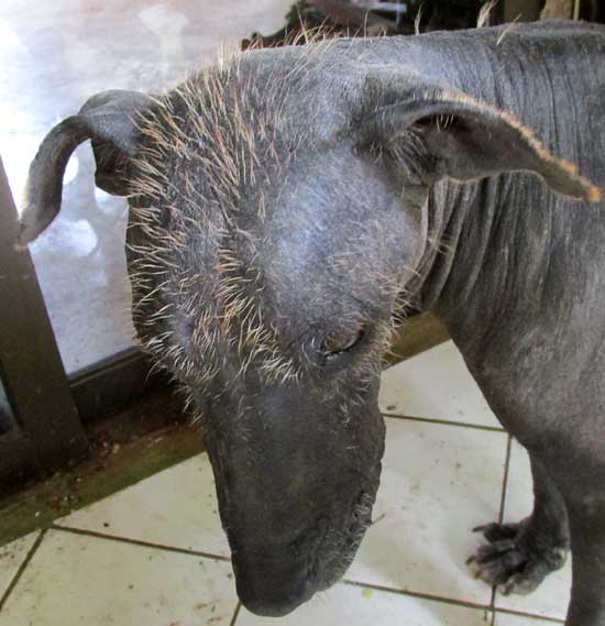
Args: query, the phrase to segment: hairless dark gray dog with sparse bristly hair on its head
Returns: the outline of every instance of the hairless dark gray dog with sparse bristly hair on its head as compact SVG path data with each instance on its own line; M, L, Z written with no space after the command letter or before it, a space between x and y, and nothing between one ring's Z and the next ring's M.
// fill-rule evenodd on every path
M571 546L565 624L605 626L604 62L605 29L566 22L252 52L210 72L220 89L99 95L41 146L22 244L58 212L85 139L98 184L131 193L135 323L204 413L251 611L293 611L354 557L384 448L385 327L404 294L446 323L531 458L535 510L482 528L479 575L531 591ZM253 161L242 125L258 163L230 178L234 155ZM180 143L166 147L170 133ZM246 343L233 312L246 298L278 370Z

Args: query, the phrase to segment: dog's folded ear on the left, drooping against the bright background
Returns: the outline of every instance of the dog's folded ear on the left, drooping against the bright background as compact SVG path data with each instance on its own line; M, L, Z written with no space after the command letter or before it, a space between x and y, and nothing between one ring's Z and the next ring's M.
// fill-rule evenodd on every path
M129 193L138 120L153 103L151 97L138 91L103 91L87 100L77 116L51 130L30 165L19 245L32 242L58 215L67 162L76 147L88 139L92 140L97 162L97 186L118 196Z

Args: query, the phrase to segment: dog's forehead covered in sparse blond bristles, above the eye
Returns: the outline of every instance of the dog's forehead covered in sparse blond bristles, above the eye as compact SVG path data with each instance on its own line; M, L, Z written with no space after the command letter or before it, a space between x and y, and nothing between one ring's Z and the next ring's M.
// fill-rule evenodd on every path
M351 190L334 187L331 168L300 161L320 153L290 123L287 98L237 67L195 77L145 120L133 185L143 202L134 219L152 248L139 264L138 297L145 305L145 281L168 276L157 294L184 329L162 350L190 338L194 352L218 362L234 349L242 371L254 362L280 381L298 374L288 349L301 327L356 315L375 299L384 268L370 222L355 227Z

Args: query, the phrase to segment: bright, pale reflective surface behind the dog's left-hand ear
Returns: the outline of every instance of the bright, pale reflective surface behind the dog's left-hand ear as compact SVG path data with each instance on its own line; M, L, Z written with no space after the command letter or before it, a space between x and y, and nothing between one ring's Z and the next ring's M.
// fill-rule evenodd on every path
M18 206L44 134L106 89L158 91L221 43L272 33L292 0L3 0L0 155ZM32 246L68 373L132 344L125 200L96 189L89 145L64 179L63 210Z

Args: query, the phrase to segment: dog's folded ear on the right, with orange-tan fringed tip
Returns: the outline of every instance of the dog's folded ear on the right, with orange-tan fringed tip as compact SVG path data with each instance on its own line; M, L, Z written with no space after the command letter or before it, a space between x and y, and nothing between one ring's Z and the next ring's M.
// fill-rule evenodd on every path
M418 183L525 171L564 196L602 198L601 188L553 156L510 113L461 91L376 73L367 78L364 98L356 120L362 144L391 153Z

